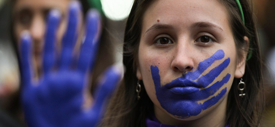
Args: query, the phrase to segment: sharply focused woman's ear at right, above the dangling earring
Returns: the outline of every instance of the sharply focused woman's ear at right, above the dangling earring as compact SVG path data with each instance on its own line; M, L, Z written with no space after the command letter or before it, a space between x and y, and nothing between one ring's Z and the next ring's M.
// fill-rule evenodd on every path
M245 70L246 70L246 60L247 60L247 52L249 50L249 39L247 36L244 37L244 40L245 40L245 47L244 49L245 50L242 50L241 51L241 56L239 56L239 59L238 59L238 63L237 63L237 68L236 68L236 71L235 71L235 78L242 78L245 74Z

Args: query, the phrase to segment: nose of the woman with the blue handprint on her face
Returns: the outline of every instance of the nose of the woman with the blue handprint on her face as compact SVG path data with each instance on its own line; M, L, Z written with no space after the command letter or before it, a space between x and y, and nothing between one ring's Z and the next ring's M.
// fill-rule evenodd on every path
M174 51L173 60L171 63L171 68L174 71L178 72L190 72L194 67L193 56L190 49L187 45L177 46ZM193 55L193 56L192 56Z

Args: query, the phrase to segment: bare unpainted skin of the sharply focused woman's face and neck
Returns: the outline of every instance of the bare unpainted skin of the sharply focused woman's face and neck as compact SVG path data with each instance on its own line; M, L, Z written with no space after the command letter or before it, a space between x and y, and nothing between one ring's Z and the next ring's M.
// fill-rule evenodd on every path
M143 80L146 92L154 103L156 118L162 124L173 126L224 127L228 92L234 77L241 78L245 73L244 58L247 55L245 52L237 54L226 8L217 0L155 0L144 13L141 28L137 77ZM205 36L210 39L203 40ZM164 41L164 37L169 41ZM248 38L244 39L248 44ZM229 58L229 65L206 88L227 74L230 78L214 95L196 102L203 104L223 89L226 89L225 95L195 116L179 118L167 112L157 99L152 67L159 69L162 87L176 78L195 72L200 62L219 50L224 52L224 57L215 60L201 76ZM175 94L177 96L182 95Z

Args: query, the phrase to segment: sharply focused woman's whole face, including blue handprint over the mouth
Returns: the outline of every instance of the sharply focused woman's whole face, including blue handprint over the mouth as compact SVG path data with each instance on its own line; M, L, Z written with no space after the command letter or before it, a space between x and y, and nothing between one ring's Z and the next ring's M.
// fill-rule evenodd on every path
M244 73L237 56L218 0L155 0L144 13L137 77L159 120L224 113L233 79Z

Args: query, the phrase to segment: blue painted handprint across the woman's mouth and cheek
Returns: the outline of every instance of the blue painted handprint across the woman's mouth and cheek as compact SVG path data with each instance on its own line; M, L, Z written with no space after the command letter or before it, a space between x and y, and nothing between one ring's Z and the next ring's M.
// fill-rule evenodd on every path
M205 110L217 102L225 95L227 89L223 88L218 95L208 99L203 103L197 101L204 100L217 93L220 88L228 82L230 74L224 76L220 81L217 81L212 86L206 88L211 84L217 76L229 65L230 58L225 59L219 66L212 69L208 74L202 76L201 74L211 66L216 60L224 57L222 50L217 51L210 58L199 63L198 68L194 72L189 72L170 83L161 86L161 77L159 75L159 68L151 66L151 74L154 80L157 99L161 106L172 115L178 118L188 118L190 116L198 115L202 110ZM194 88L188 94L175 94L172 91L175 87ZM199 90L198 88L202 88ZM204 89L205 88L205 89ZM188 91L188 90L187 90Z

